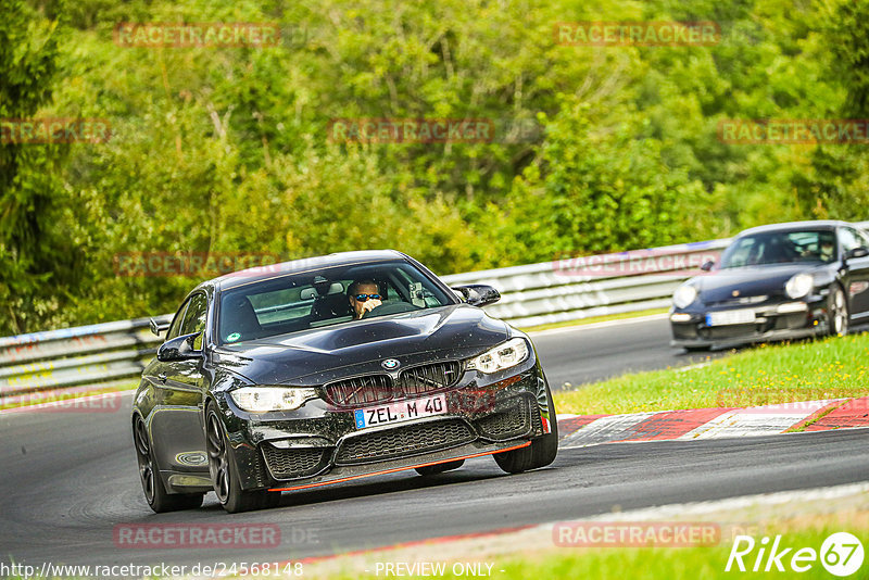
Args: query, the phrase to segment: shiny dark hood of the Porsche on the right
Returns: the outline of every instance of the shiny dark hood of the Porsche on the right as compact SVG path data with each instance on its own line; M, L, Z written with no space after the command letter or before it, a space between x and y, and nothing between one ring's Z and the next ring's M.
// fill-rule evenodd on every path
M815 274L823 265L786 264L751 266L715 270L706 276L697 276L692 283L697 287L701 300L705 303L732 300L733 290L740 297L776 295L784 293L784 285L795 274Z

